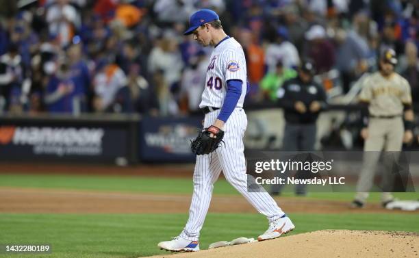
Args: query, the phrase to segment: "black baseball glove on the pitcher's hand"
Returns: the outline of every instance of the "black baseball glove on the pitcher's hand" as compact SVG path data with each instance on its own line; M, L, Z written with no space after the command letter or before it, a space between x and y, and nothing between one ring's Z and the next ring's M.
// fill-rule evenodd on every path
M214 135L212 138L211 133ZM209 154L215 151L223 142L224 131L214 125L201 129L195 140L190 142L190 149L196 155Z

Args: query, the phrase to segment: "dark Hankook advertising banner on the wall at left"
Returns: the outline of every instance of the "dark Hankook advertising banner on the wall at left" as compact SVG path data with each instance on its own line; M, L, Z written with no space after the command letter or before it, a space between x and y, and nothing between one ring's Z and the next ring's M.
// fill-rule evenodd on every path
M129 122L3 120L0 160L133 163L133 136L127 125Z

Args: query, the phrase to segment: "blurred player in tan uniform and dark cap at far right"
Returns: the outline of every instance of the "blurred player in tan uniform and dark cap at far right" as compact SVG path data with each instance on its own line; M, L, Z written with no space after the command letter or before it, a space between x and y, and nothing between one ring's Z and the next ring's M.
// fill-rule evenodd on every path
M403 142L413 140L414 112L411 109L411 90L406 79L394 72L396 53L385 50L379 60L379 71L364 81L359 99L368 105L368 127L361 130L364 138L364 164L357 181L357 194L352 207L364 207L374 181L381 151L401 151ZM403 119L404 118L404 119ZM367 122L366 122L367 124ZM386 153L387 168L398 159L396 153ZM381 203L383 207L394 200L391 189L394 180L390 169L383 172Z

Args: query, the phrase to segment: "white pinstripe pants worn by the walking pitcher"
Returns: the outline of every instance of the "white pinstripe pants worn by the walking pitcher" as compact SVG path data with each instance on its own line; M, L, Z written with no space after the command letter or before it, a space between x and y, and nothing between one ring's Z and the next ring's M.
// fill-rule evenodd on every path
M220 110L205 115L204 127L212 125ZM244 159L243 136L247 127L246 113L242 108L234 109L224 126L224 142L214 153L196 156L194 169L194 193L189 209L189 219L180 236L197 241L212 197L214 183L223 170L227 181L242 194L259 213L268 220L277 220L283 211L267 192L248 192L246 160Z

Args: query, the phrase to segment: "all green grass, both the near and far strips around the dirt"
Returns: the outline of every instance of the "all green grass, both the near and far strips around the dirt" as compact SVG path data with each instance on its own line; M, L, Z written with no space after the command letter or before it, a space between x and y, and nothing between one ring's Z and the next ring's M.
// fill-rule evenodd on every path
M70 175L0 175L0 187L190 194L191 179L151 177L92 177ZM238 194L226 181L214 194ZM292 195L285 194L285 195ZM418 193L397 194L418 199ZM351 201L352 193L310 193L305 198ZM372 194L378 201L379 194ZM359 229L419 232L418 214L288 214L296 230ZM157 242L178 235L187 214L1 214L0 244L51 244L51 255L25 257L142 257L166 253ZM259 214L208 214L201 231L201 248L211 242L266 230ZM22 255L0 255L22 257Z

